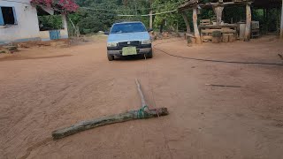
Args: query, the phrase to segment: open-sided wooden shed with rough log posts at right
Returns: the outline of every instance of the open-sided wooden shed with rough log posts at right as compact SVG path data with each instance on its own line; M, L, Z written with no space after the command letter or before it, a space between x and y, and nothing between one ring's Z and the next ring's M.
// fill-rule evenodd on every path
M239 30L239 26L236 24L228 24L222 21L223 10L226 6L243 6L246 9L246 19L244 22L243 39L249 41L250 36L253 34L252 25L252 13L256 9L269 10L271 8L278 8L281 14L280 19L280 38L283 39L283 0L187 0L184 4L179 6L179 11L182 13L187 26L187 34L190 33L189 21L185 11L193 11L193 25L194 36L196 43L202 43L203 40L210 39L211 34L214 31L219 31L222 34L237 34L236 30ZM203 9L212 8L215 12L215 19L213 22L210 19L202 19L200 25L198 25L198 12ZM268 18L267 18L268 19Z

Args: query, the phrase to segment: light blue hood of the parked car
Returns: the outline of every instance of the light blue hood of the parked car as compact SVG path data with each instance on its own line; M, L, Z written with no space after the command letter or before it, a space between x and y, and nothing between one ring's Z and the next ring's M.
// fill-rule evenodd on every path
M125 34L109 34L107 42L129 42L149 40L148 32L125 33Z

